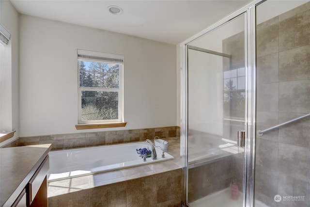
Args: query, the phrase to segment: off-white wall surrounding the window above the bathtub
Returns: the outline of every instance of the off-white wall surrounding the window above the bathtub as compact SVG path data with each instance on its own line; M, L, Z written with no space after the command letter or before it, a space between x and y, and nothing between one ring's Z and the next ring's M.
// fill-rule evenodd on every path
M77 49L124 55L124 120L135 129L176 126L174 45L58 21L20 16L20 134L76 130Z

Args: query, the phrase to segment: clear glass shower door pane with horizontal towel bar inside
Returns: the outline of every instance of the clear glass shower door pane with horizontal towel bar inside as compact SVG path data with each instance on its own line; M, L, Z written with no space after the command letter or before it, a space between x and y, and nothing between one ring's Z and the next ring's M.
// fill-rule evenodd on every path
M244 205L245 16L187 45L190 207Z

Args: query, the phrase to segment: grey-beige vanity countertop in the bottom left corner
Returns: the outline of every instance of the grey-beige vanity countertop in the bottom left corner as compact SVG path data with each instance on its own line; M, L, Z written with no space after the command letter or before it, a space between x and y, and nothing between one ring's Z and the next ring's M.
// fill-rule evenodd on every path
M50 150L51 144L0 148L0 207L13 204Z

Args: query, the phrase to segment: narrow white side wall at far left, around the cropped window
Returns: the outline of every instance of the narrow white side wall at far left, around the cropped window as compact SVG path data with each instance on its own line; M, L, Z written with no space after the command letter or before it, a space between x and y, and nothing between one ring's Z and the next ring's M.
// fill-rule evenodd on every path
M11 41L5 48L5 73L1 74L1 128L16 130L13 138L0 143L0 146L18 138L18 13L9 0L0 0L0 22L11 33ZM4 82L5 81L5 82Z

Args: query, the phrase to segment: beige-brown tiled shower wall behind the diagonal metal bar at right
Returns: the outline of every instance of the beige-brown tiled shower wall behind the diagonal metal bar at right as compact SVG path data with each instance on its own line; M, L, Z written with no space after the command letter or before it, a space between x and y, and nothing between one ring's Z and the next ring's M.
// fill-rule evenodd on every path
M260 15L260 14L258 14ZM257 25L256 129L310 113L310 2ZM310 118L256 136L255 197L310 206ZM305 196L275 202L275 195Z

